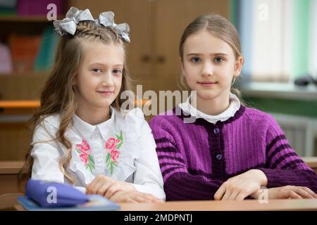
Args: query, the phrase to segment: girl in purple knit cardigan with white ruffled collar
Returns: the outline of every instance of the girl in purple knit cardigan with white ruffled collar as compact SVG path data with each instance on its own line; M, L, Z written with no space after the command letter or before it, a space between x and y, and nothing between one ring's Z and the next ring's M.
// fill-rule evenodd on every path
M201 15L190 23L180 40L180 64L197 94L150 121L166 200L258 198L261 187L268 198L317 198L315 172L274 118L244 107L230 92L243 58L228 20Z

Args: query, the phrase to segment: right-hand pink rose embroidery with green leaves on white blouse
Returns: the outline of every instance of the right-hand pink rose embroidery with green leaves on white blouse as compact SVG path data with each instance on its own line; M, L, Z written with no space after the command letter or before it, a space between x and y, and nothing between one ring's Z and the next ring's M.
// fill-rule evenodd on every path
M116 134L116 138L109 138L104 144L107 153L106 166L110 169L110 174L113 174L113 167L118 166L118 159L120 157L120 147L123 144L123 134L120 131L120 136Z

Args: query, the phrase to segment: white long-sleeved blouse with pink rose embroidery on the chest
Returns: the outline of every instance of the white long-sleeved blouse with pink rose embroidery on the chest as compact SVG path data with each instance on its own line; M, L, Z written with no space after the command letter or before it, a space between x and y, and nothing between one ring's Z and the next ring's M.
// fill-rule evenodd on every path
M51 141L59 123L59 115L50 115L35 129L32 179L69 183L58 167L66 148ZM165 200L156 143L139 108L123 115L111 107L111 118L97 125L75 115L65 136L72 143L72 159L66 172L75 179L76 188L85 191L85 186L102 174L130 182L137 191Z

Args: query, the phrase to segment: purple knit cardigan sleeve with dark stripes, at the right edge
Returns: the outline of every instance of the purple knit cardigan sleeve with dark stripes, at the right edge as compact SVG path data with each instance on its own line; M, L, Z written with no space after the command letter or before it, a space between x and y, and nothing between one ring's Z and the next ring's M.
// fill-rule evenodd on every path
M266 168L268 188L294 185L306 186L317 193L317 175L299 158L273 117L268 119L266 134Z

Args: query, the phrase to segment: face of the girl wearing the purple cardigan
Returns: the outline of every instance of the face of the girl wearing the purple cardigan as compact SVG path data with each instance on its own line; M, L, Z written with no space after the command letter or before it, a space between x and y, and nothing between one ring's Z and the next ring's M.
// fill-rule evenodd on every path
M240 74L242 57L235 60L231 46L206 30L190 35L183 48L182 74L197 100L228 98L233 76Z

